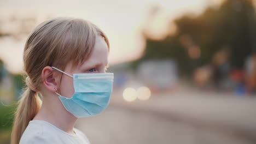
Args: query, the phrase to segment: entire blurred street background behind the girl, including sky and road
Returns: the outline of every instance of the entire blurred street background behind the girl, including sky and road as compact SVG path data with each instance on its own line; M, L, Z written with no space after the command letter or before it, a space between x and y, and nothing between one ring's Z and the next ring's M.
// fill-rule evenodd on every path
M110 104L91 143L256 143L256 1L0 0L0 143L10 142L28 34L80 17L110 40Z

